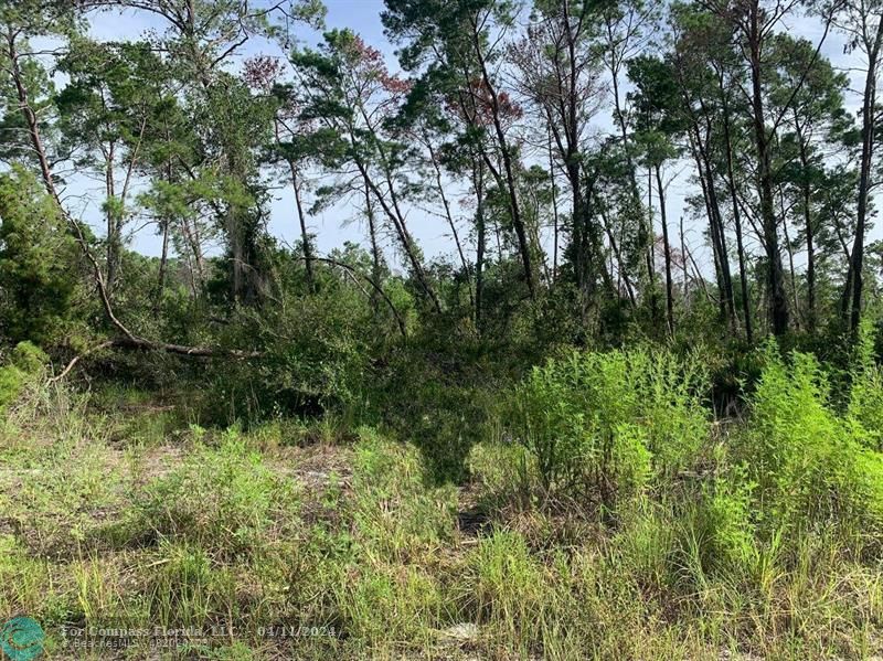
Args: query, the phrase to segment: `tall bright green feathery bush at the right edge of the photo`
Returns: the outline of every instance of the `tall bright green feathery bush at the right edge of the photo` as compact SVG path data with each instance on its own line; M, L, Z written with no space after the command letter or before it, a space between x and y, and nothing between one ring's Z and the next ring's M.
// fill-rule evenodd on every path
M737 446L757 483L763 527L833 525L873 539L883 524L883 456L862 445L868 434L854 417L836 413L815 356L794 352L786 362L772 342L765 354L751 424Z

